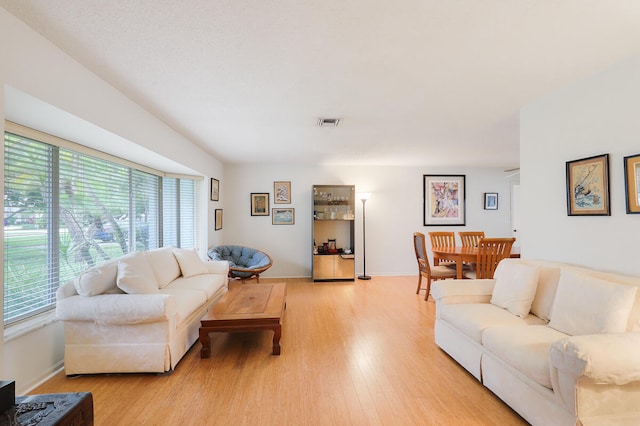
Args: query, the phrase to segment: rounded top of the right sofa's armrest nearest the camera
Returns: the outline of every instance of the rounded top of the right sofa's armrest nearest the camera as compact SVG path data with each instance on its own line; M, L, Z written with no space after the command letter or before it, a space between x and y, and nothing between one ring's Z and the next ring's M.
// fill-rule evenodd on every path
M551 367L598 384L624 385L640 380L639 348L637 332L571 336L551 346Z

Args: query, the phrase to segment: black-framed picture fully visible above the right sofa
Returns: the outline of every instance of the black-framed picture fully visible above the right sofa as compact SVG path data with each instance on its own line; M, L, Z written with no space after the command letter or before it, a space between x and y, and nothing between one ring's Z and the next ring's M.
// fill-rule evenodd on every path
M567 215L611 215L609 154L567 161Z

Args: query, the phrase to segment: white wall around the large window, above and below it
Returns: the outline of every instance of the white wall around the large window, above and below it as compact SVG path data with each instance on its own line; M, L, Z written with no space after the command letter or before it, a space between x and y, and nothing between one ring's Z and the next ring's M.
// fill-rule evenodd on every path
M224 173L223 165L216 158L177 134L2 8L0 56L0 133L4 133L4 120L11 119L89 146L100 141L95 148L115 155L125 151L128 159L143 165L157 167L160 162L169 169L174 168L168 170L171 172L201 174L205 178L201 186L202 199L209 199L209 177L220 177ZM64 126L60 126L62 120L49 120L52 117L63 118ZM76 121L68 122L69 117L75 117ZM59 128L56 129L56 125ZM93 133L93 141L84 140L92 129L102 132ZM105 133L109 134L110 142L105 143L102 139ZM156 163L148 164L151 160ZM213 209L220 205L203 203L204 217L212 220ZM2 208L4 210L4 205ZM222 241L223 234L210 232L212 228L212 222L200 224L200 233L209 237L208 241L202 241L201 248ZM4 238L1 228L0 237ZM2 250L0 246L0 255L4 257ZM2 306L0 303L0 313ZM41 328L14 335L11 340L0 339L0 378L15 380L18 394L33 387L62 365L62 336L61 324L45 322Z

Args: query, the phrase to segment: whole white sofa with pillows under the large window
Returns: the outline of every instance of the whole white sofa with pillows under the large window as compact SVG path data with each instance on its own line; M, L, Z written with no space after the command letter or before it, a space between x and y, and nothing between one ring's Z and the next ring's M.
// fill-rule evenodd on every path
M57 292L67 375L171 371L200 318L228 289L227 262L195 250L135 252L90 268Z

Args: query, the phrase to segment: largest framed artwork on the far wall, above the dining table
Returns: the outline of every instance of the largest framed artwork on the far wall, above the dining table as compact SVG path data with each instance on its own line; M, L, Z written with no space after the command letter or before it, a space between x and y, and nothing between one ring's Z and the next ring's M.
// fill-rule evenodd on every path
M424 226L464 226L465 175L423 175Z

